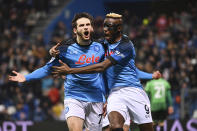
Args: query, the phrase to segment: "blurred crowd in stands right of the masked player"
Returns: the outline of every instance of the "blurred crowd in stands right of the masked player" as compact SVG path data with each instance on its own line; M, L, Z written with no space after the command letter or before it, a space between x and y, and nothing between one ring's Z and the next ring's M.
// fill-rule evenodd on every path
M136 65L147 72L160 70L170 82L174 119L180 118L181 89L197 88L197 3L187 6L188 10L153 13L142 19L125 11L129 20L124 30L136 47ZM185 117L197 118L197 96L185 92L184 99Z

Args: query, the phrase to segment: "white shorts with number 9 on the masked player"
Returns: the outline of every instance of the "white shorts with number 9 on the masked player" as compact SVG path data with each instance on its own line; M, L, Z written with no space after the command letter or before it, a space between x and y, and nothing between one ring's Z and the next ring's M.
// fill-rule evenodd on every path
M137 124L152 122L150 101L143 89L114 88L110 92L107 103L107 114L117 111L126 120L129 113L130 119Z

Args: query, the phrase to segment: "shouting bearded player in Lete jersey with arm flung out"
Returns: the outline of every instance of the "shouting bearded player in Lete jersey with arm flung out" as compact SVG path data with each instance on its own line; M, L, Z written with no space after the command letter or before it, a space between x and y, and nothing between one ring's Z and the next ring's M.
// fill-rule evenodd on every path
M52 66L59 65L59 60L72 68L96 64L103 61L104 49L100 43L91 41L93 17L87 13L76 14L72 20L76 39L58 47L59 55L52 58L45 66L23 76L13 71L16 76L9 80L25 82L41 79L51 74ZM83 125L89 131L102 130L102 112L105 97L101 73L69 74L64 82L65 117L70 131L82 131Z

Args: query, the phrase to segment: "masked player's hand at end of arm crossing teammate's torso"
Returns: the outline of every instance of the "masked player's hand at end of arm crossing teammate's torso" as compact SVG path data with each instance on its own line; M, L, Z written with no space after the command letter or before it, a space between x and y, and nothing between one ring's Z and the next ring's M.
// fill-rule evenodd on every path
M70 72L70 67L66 63L62 62L61 60L59 60L59 63L61 64L60 66L52 66L54 69L52 72L54 77L66 75Z

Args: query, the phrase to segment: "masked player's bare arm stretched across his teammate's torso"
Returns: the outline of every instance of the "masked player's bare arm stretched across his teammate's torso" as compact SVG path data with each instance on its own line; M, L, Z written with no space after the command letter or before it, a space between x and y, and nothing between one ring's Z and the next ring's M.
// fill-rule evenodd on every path
M54 76L66 75L66 74L89 74L89 73L103 72L113 64L109 59L106 59L98 64L93 64L81 68L70 68L66 63L63 63L61 60L59 60L59 63L61 64L60 66L52 67L54 69L54 71L52 72Z

